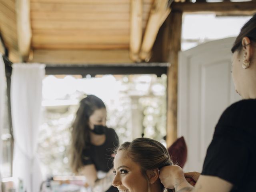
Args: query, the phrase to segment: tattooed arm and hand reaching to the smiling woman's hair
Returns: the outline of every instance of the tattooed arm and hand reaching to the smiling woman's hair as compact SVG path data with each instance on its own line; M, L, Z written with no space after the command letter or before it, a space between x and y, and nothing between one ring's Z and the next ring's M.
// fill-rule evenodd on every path
M162 168L159 178L165 188L174 188L176 192L230 192L232 189L232 184L226 180L205 175L201 175L193 187L186 181L182 168L179 166Z

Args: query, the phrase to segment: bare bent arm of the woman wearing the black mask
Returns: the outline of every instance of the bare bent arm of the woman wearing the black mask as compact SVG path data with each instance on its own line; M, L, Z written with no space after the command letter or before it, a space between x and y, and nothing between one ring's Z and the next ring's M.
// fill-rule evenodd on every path
M87 182L92 188L92 192L105 192L112 186L112 180L114 178L112 169L108 171L104 178L98 179L94 164L90 164L82 168L82 174L86 176Z

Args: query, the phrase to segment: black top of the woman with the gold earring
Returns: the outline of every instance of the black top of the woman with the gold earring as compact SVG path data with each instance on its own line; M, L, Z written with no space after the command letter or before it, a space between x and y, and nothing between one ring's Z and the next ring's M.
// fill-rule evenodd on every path
M202 175L232 183L232 192L256 190L256 99L241 100L223 112Z

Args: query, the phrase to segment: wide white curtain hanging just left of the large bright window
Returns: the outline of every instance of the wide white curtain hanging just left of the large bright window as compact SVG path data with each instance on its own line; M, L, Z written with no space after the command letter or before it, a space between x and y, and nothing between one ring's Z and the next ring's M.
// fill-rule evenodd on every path
M44 76L43 64L12 64L13 176L22 180L26 192L38 192L42 182L36 149Z

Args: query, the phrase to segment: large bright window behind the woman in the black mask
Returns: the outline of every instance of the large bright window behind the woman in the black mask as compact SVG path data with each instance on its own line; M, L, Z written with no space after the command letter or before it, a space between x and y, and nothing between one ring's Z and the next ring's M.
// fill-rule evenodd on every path
M107 126L120 143L145 137L164 142L166 135L167 76L48 75L43 81L44 120L38 154L45 175L71 174L68 161L70 127L78 102L86 94L101 98L107 107Z

